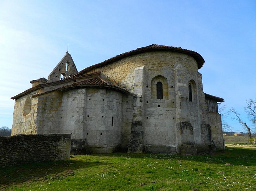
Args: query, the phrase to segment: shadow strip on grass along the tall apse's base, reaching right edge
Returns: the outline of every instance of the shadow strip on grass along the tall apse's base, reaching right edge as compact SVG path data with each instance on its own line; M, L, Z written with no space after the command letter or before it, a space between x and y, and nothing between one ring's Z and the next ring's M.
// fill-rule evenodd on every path
M148 158L148 159L169 159L169 160L189 160L195 162L223 164L231 163L232 165L256 166L256 149L228 147L225 151L218 151L215 154L200 155L182 155L182 154L94 154L110 157L125 158Z

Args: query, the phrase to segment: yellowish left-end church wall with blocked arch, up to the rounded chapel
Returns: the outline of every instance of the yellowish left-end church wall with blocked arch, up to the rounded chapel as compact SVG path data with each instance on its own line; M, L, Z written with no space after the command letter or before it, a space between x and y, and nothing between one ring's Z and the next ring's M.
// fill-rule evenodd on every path
M60 126L62 92L37 97L32 97L33 94L35 92L15 100L12 135L60 133L56 127ZM28 103L30 107L26 109Z

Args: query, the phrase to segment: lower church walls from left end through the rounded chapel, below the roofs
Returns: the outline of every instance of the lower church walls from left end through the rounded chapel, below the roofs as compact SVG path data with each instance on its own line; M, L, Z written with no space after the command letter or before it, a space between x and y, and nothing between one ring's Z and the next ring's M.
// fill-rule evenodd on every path
M23 116L31 94L15 102L12 135L71 134L72 139L86 139L93 152L127 147L132 123L131 95L97 88L53 91L31 98L31 112Z

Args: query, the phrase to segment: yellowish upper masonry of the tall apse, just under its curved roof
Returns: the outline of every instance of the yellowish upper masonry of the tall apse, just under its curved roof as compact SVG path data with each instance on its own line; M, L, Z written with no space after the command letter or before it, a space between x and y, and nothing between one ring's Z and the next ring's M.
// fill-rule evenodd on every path
M183 67L185 67L187 71L192 71L191 74L195 76L194 72L197 72L197 62L194 58L183 53L164 51L146 52L126 57L117 62L88 71L87 74L101 71L102 78L107 78L109 81L117 83L118 85L121 84L133 93L135 68L145 66L146 71L152 70L155 74L158 73L158 75L164 75L170 79L170 72L173 72L170 68L175 68L180 63L182 63ZM145 82L147 82L147 79L154 77L151 76L150 73L148 74L149 76L145 76ZM151 82L151 79L149 81Z

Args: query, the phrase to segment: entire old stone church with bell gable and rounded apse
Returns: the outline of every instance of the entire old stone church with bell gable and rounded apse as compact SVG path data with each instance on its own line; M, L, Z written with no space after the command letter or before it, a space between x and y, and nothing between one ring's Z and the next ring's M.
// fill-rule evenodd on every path
M12 97L12 135L68 133L91 152L224 149L224 100L203 92L204 63L192 50L153 44L78 72L66 52L48 79Z

